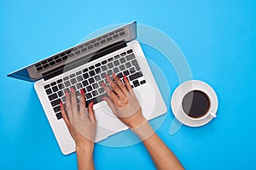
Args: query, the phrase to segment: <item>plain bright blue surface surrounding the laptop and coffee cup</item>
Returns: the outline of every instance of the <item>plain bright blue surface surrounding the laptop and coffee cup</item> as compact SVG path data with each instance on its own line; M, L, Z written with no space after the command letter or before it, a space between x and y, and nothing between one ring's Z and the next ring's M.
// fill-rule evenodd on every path
M256 1L250 0L1 0L0 169L77 168L75 154L61 154L33 84L6 75L73 46L103 26L133 20L172 37L188 59L194 79L208 82L218 94L218 117L206 126L183 126L171 136L169 108L157 131L183 166L256 169ZM160 62L151 48L143 49L148 58ZM172 65L161 68L172 94L177 76L169 72ZM155 168L143 144L122 148L96 144L94 160L96 169Z

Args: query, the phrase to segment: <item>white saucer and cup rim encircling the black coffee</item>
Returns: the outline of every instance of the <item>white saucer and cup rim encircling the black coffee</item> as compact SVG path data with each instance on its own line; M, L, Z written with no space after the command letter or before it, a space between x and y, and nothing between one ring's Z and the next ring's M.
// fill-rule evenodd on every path
M203 116L199 119L187 116L187 114L183 111L182 102L183 97L192 90L200 90L208 95L211 101L209 112L211 112L211 115L213 116ZM177 121L189 127L201 127L207 124L207 122L210 122L216 115L218 109L218 98L214 90L206 82L189 80L187 82L183 82L175 89L174 93L172 94L171 105L173 115L177 118Z

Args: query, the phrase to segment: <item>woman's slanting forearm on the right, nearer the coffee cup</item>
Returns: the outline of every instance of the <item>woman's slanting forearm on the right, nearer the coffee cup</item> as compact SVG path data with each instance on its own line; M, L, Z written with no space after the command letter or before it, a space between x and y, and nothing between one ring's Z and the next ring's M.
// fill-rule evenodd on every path
M157 169L183 169L177 157L164 144L148 122L143 122L139 127L132 129L143 140Z

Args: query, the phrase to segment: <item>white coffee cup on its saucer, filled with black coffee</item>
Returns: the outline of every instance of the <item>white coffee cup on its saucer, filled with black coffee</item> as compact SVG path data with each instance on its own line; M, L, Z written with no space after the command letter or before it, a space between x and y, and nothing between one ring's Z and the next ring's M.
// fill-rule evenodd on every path
M190 127L200 127L216 117L218 98L206 82L190 80L176 88L171 105L179 122Z

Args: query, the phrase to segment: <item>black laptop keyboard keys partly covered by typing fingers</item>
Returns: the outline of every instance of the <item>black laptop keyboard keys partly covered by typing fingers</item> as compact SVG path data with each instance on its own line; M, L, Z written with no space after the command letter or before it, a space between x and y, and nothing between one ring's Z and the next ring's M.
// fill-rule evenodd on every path
M131 82L132 88L137 88L146 83L135 54L132 49L129 49L114 57L102 60L95 65L90 65L81 71L77 71L55 82L44 85L45 93L48 95L56 118L58 120L62 118L60 101L66 107L65 91L70 91L70 88L73 87L79 104L80 89L84 89L86 106L89 105L92 100L94 104L96 104L102 101L103 96L107 95L101 87L101 82L105 82L108 85L106 74L112 77L113 73L115 73L121 81L123 81L123 76L126 75ZM139 77L143 77L143 79L139 81Z

